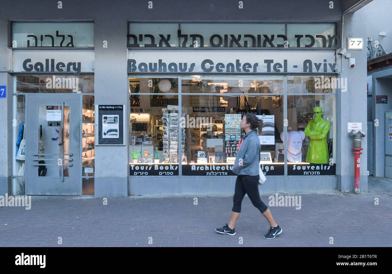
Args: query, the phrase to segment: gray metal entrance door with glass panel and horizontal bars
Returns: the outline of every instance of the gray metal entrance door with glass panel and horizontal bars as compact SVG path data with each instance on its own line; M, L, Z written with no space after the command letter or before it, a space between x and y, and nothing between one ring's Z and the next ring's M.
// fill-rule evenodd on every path
M80 98L27 95L27 194L81 195Z

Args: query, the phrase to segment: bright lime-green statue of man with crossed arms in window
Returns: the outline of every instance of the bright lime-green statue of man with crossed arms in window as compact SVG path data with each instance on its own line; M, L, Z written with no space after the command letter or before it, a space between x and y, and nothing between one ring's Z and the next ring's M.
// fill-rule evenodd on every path
M309 121L305 128L305 136L310 138L306 161L313 164L328 164L327 133L330 122L323 119L323 110L316 106L313 108L314 119Z

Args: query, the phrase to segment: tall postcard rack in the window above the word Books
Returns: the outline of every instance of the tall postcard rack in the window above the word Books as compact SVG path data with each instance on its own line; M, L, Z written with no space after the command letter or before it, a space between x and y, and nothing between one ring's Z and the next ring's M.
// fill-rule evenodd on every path
M163 163L178 163L178 106L162 108ZM185 117L185 113L182 113ZM185 149L185 132L181 136L181 155Z

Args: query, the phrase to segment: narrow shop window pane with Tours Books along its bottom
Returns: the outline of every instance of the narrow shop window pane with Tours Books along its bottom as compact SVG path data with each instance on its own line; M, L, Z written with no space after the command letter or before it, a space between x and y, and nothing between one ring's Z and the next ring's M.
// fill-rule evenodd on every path
M129 90L130 175L178 175L178 79L130 78Z

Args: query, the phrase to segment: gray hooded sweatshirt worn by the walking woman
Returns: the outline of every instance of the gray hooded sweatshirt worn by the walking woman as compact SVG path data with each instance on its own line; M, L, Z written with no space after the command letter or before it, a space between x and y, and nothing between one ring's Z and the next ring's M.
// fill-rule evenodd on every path
M233 166L233 173L237 175L259 175L260 166L260 141L257 130L252 130L241 138L236 161ZM243 159L242 166L238 166L240 159Z

